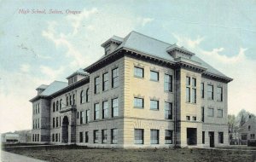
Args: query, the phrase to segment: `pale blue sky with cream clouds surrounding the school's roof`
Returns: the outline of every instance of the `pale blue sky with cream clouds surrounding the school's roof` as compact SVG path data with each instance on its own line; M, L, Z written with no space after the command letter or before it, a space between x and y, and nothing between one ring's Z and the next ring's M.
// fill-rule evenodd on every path
M255 20L255 0L0 0L0 133L32 129L29 100L40 84L67 81L102 57L108 38L131 31L184 46L234 78L229 113L256 114Z

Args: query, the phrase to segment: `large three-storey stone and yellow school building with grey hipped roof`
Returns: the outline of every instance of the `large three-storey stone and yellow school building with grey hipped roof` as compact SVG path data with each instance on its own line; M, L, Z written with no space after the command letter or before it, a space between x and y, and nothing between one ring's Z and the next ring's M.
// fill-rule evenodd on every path
M96 148L228 145L228 83L194 53L131 32L89 67L40 85L32 142Z

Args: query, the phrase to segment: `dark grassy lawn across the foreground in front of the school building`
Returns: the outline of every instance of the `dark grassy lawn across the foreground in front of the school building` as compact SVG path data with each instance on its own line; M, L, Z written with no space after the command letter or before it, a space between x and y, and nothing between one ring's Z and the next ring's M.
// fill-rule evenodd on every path
M218 149L100 149L79 146L2 148L10 153L47 161L253 161L255 151Z

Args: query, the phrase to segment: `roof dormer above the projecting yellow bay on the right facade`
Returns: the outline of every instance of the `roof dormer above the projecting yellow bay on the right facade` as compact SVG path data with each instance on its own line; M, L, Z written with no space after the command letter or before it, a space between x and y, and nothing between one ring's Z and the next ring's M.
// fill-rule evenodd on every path
M178 47L176 43L167 47L166 52L172 55L174 59L178 59L178 58L191 59L191 57L195 55L194 53L190 52L188 49L185 49L183 46Z

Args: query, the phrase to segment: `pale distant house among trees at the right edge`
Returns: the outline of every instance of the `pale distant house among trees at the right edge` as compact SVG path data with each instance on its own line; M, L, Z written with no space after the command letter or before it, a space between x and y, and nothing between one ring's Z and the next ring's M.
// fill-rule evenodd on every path
M248 121L238 129L238 133L240 144L256 146L256 118L249 115Z

